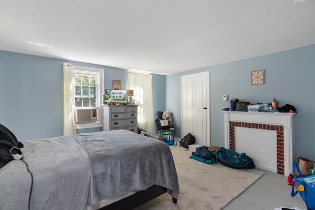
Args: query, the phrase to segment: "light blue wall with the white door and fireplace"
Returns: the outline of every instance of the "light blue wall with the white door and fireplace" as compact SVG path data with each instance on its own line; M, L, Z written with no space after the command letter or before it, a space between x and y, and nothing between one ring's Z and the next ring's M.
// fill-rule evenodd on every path
M265 70L265 84L251 85L251 71ZM176 121L176 136L181 137L181 76L210 71L210 135L212 146L224 146L222 107L229 107L223 95L242 101L293 105L294 157L315 160L315 45L194 69L166 76L166 110ZM254 138L254 137L253 137ZM268 154L268 151L266 151Z

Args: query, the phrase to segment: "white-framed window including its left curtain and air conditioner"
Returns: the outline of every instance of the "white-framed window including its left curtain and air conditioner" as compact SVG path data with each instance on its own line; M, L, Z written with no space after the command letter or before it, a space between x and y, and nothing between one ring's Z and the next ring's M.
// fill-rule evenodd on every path
M101 127L102 94L104 69L63 63L63 135Z

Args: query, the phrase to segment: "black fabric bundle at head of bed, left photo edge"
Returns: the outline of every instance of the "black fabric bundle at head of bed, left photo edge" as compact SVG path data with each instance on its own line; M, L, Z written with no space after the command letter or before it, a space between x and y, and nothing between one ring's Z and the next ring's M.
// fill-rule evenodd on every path
M10 152L12 148L23 148L23 146L9 129L0 124L0 168L13 160L11 152L13 154L22 154L19 149L14 149Z

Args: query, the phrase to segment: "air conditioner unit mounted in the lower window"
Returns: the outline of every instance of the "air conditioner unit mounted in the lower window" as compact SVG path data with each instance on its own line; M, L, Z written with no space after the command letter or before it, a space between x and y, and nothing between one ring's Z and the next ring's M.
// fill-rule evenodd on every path
M76 109L75 110L75 122L96 122L99 121L99 108L91 109Z

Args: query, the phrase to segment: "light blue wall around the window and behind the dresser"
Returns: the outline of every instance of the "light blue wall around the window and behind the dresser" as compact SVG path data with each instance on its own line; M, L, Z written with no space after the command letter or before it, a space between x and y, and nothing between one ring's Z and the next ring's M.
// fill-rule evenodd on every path
M112 80L128 88L128 70L90 63L0 51L0 123L19 140L63 135L63 62L105 69L105 89ZM165 76L152 75L153 110L165 110ZM81 129L95 132L102 128Z

